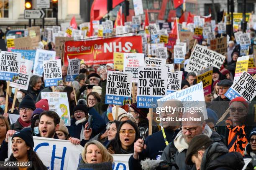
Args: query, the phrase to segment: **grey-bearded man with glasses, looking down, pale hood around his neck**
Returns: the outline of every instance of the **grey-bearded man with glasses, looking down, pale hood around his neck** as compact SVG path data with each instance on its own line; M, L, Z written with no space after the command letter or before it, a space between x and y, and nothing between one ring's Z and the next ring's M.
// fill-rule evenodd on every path
M190 141L200 134L207 135L213 142L222 143L223 138L209 128L202 112L195 112L193 114L185 112L182 117L181 131L177 134L174 141L164 149L161 160L176 163L180 170L195 169L195 165L186 165L184 160Z

